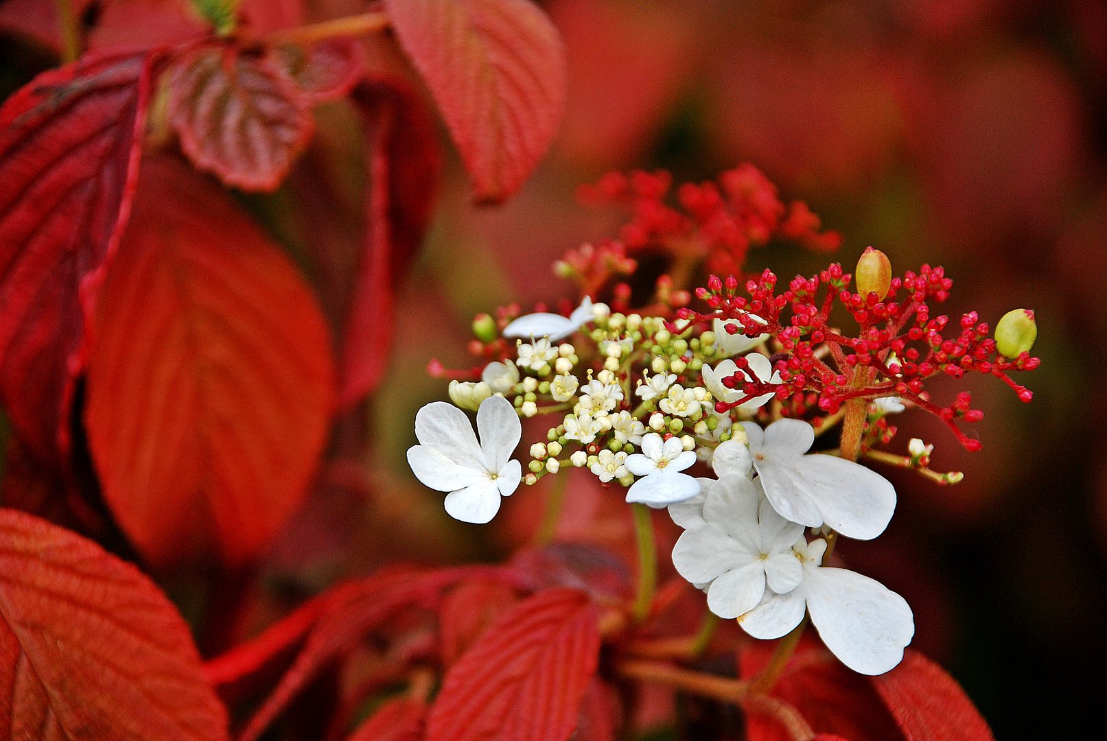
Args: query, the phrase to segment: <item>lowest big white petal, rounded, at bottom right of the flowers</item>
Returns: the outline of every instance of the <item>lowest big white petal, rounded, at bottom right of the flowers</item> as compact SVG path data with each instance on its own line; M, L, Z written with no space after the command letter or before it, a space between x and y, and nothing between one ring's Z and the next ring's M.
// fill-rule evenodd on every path
M819 637L842 664L879 675L903 658L914 635L907 601L880 582L846 568L804 568L804 592Z

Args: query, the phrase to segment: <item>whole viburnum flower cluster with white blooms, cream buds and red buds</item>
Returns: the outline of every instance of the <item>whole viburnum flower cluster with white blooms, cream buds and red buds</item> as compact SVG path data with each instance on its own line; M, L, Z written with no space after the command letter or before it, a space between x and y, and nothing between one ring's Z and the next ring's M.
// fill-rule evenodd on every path
M623 203L632 218L619 240L586 246L555 265L577 280L580 304L563 314L540 307L519 316L513 306L497 310L495 320L478 316L472 349L482 364L451 373L433 361L431 369L454 378L449 396L457 406L479 409L482 440L496 438L488 405L515 410L514 417L500 415L505 425L518 417L550 420L545 439L529 446L523 483L584 468L603 487L625 487L635 508L668 507L685 529L673 563L707 592L717 615L737 617L754 637L775 638L808 614L847 666L887 671L913 635L910 608L872 580L829 566L839 535L876 538L896 508L892 484L857 461L913 469L939 483L960 481L960 472L929 468L933 446L922 440L912 439L906 456L884 450L897 431L888 416L929 411L979 450L979 440L961 427L983 417L971 395L955 394L941 406L925 385L935 376L975 372L1031 400L1011 373L1038 366L1028 353L1033 312L1011 312L996 337L975 312L951 326L948 316L931 314L952 289L942 268L924 264L893 276L888 257L872 248L860 255L856 283L832 263L777 292L769 270L741 272L751 246L789 237L828 249L837 234L819 233L818 219L803 203L785 208L749 165L724 173L717 184L683 186L681 210L664 202L669 189L666 174L643 173L610 175L582 188L586 200ZM632 255L643 250L664 255L670 272L634 311L629 285L612 283L633 274ZM708 274L694 294L684 288L701 269L718 265L731 274ZM604 293L610 304L593 302ZM852 330L839 325L845 316ZM817 436L839 425L837 448L809 452ZM475 457L472 432L466 427L458 434ZM517 435L505 429L498 436L510 434ZM710 466L715 478L694 478L697 465ZM499 501L487 479L504 466L498 458L470 465L475 473L457 480L483 481L488 505L479 518L457 507L451 513L486 521ZM433 488L448 483L426 467L413 468ZM469 494L452 492L447 502L459 497ZM635 523L640 547L652 547L652 535L642 532L649 519L635 516Z

